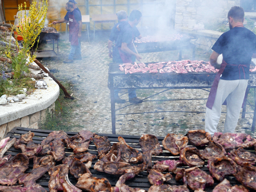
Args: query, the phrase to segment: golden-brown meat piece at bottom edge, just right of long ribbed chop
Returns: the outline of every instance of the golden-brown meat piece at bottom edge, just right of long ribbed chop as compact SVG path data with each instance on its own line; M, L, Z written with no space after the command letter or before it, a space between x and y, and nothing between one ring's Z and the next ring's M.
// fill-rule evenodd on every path
M111 184L106 178L92 177L90 174L83 174L77 181L76 187L89 192L111 191Z

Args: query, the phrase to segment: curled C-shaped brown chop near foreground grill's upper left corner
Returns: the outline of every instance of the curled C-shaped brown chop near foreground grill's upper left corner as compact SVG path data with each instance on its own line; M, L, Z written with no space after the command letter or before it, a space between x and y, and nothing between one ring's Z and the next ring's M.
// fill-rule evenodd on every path
M42 150L42 146L33 142L34 135L34 133L29 131L28 133L20 136L14 143L14 148L22 150L22 153L28 157L37 155Z

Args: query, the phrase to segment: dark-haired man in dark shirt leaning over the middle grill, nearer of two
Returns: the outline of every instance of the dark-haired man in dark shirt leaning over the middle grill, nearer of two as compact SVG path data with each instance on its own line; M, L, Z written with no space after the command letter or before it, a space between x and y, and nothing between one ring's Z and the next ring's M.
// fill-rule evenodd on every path
M136 28L136 26L140 23L142 14L139 10L133 10L130 14L129 21L123 22L118 25L118 29L120 30L118 37L116 39L116 46L113 51L113 61L118 63L127 63L134 62L136 59L140 61L141 56L136 53L134 46L134 38L139 37L141 35ZM125 100L120 99L118 96L118 91L115 90L115 102L122 103ZM136 90L128 90L129 91L129 102L132 103L141 103L136 95Z

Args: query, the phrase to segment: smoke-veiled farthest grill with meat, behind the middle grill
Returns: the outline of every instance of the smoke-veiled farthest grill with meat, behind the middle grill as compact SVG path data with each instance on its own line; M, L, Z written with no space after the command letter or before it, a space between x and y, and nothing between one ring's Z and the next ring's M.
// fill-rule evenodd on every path
M179 60L182 60L182 50L193 49L193 60L195 59L196 46L190 42L193 36L182 34L181 39L176 40L159 40L156 42L136 42L134 43L138 53L151 53L162 51L180 50Z

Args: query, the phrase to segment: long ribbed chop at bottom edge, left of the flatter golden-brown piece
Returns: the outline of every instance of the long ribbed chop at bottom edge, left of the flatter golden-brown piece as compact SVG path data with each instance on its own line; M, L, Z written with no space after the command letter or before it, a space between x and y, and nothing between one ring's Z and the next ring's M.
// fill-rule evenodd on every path
M50 177L50 181L48 184L50 192L57 191L69 191L69 192L82 192L82 190L76 188L69 181L69 168L68 165L60 164L50 168L48 171Z

